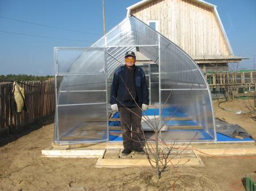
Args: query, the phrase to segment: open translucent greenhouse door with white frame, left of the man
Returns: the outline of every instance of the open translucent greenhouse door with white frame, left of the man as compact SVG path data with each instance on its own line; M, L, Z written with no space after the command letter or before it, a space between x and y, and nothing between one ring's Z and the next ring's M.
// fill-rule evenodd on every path
M108 97L105 48L55 48L55 142L105 142Z

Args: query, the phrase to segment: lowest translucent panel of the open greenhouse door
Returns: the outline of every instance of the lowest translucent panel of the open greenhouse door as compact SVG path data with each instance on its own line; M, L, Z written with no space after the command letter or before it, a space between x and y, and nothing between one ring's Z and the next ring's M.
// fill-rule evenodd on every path
M58 107L60 141L108 139L106 104Z

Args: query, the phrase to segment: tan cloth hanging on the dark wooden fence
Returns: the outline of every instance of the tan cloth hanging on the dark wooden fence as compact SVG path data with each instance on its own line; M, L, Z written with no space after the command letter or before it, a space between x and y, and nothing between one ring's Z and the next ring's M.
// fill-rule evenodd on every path
M26 96L23 87L20 87L17 82L13 83L13 92L11 96L11 110L13 114L20 113L22 110L27 111Z

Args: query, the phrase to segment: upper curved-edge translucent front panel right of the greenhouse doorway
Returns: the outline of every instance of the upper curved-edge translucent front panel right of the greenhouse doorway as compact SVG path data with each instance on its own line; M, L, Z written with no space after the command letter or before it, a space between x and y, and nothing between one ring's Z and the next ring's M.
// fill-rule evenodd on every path
M162 89L207 88L195 62L164 37L160 37L160 71Z

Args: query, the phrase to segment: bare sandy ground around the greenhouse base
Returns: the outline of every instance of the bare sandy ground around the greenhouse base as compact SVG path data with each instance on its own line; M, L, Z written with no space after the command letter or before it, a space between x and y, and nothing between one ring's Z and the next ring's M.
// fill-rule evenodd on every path
M239 124L256 137L255 114L236 115L217 107L215 117ZM250 111L253 100L234 100L221 107ZM212 158L201 156L205 167L177 167L156 181L151 168L95 168L97 159L44 158L51 147L53 116L28 126L0 147L0 190L245 190L241 179L256 170L256 155ZM15 138L14 138L15 139ZM175 182L175 186L174 186Z

